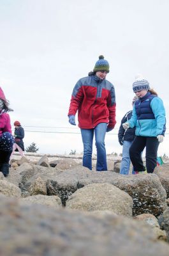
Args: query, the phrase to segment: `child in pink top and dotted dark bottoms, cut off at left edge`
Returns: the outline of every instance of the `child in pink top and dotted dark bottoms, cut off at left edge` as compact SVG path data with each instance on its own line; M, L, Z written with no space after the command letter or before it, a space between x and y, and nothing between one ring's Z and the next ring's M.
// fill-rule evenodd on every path
M0 172L3 173L4 177L9 174L9 161L14 142L11 134L10 116L6 113L8 111L13 110L9 108L8 100L6 100L0 87Z

